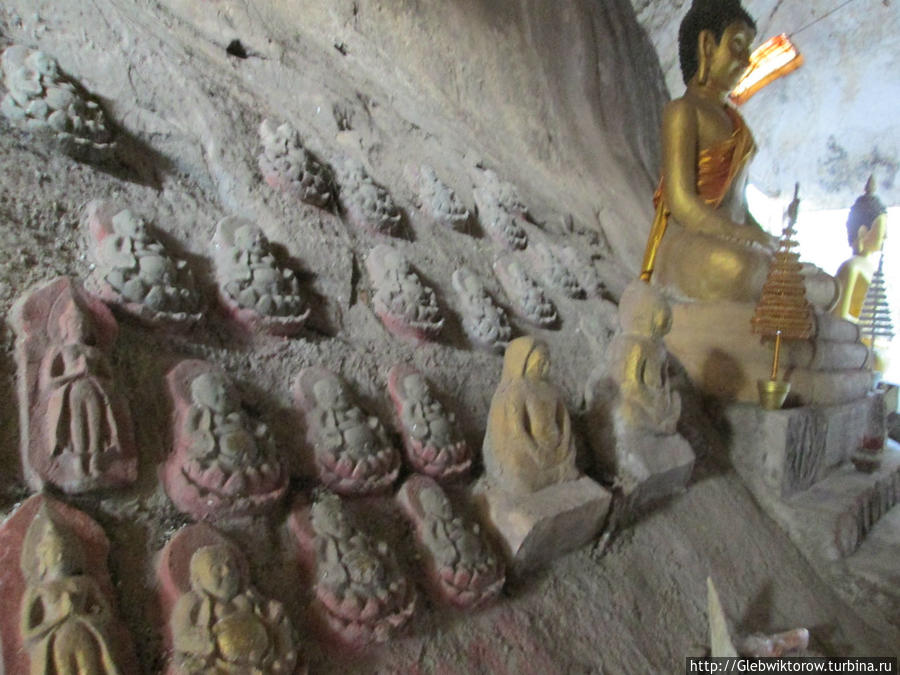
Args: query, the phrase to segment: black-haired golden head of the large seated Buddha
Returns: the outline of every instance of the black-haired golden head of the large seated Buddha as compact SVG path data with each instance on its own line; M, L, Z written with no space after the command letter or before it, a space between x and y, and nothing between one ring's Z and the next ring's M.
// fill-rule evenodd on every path
M678 30L684 83L731 91L750 63L755 37L756 22L739 0L694 0Z

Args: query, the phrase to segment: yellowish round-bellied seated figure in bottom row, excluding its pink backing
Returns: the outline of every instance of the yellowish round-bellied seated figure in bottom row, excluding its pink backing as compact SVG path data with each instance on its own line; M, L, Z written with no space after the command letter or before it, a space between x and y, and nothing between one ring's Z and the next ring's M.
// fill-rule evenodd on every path
M284 607L249 586L229 546L198 548L190 580L170 618L177 673L294 672L297 646Z

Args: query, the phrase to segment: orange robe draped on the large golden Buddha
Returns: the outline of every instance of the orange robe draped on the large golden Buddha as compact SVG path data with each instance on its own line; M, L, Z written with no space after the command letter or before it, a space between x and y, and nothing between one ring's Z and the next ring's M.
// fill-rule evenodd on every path
M725 112L731 118L734 131L725 140L701 150L697 158L697 194L713 208L719 207L728 194L735 176L756 152L753 134L750 133L744 118L731 106L725 106ZM656 216L650 227L647 247L644 250L644 262L641 265L641 279L644 281L650 281L653 275L656 252L669 222L670 211L666 206L664 180L664 176L660 177L659 186L653 194Z

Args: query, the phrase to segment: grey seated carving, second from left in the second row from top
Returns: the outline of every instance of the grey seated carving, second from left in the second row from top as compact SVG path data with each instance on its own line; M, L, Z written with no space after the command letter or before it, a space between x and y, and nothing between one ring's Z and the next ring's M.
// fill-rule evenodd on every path
M273 335L293 335L309 316L300 284L272 253L263 231L229 216L213 238L219 297L240 323Z

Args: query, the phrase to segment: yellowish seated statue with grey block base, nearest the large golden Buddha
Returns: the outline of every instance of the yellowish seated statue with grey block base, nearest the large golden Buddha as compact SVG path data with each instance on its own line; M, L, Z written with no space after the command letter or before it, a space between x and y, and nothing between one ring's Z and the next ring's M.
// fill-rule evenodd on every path
M619 332L589 378L587 428L597 470L630 509L680 492L694 466L676 431L681 397L672 388L663 337L672 311L663 294L636 280L619 301Z

